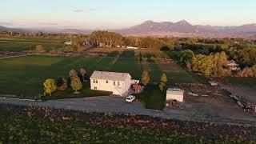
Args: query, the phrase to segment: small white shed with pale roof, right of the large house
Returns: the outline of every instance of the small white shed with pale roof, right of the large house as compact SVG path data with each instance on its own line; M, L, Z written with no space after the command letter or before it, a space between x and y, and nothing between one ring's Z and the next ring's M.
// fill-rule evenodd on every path
M177 101L177 102L183 102L183 94L184 90L180 90L178 88L169 88L166 91L166 101Z

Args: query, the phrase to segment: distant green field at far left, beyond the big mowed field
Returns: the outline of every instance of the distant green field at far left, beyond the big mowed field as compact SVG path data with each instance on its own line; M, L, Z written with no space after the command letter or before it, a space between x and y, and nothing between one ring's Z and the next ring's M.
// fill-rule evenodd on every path
M65 41L62 38L0 39L0 50L34 50L37 45L42 45L45 50L52 50L61 48Z

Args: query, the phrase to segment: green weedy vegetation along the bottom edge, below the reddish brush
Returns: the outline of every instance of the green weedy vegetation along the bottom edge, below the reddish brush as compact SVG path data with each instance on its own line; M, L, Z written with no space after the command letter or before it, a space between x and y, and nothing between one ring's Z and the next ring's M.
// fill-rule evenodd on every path
M213 141L190 134L179 134L174 130L146 130L129 126L92 125L85 122L50 122L46 118L28 118L25 114L1 114L0 143L2 142L211 143Z

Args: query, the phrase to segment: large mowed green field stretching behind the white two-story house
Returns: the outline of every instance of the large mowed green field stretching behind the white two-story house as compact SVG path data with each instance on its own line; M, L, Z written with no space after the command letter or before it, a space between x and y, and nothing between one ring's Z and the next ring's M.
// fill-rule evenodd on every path
M146 66L145 66L146 65ZM186 72L176 64L160 64L146 62L146 64L127 58L65 58L50 56L26 56L19 58L6 58L0 60L0 95L11 94L16 97L25 95L34 98L43 93L42 83L46 78L68 78L69 71L86 68L88 75L94 70L105 70L129 73L132 78L140 79L143 70L148 70L150 83L158 83L162 73L166 72L168 83L202 82L193 74ZM158 87L156 85L156 87ZM106 95L106 93L90 90L86 84L82 93L74 95L72 90L58 91L52 97L45 99L90 97ZM148 93L146 93L148 94ZM153 98L154 99L154 98ZM159 98L162 99L162 98ZM153 100L154 101L154 100Z

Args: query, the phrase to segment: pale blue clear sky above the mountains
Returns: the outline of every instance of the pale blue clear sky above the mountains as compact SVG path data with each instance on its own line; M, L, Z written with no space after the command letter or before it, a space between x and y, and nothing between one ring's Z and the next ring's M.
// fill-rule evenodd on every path
M0 25L116 29L146 20L256 23L256 0L0 0Z

